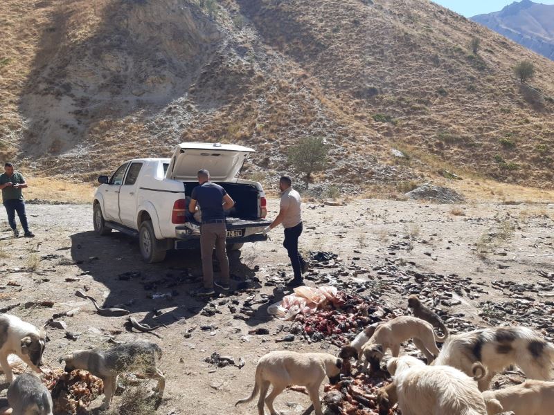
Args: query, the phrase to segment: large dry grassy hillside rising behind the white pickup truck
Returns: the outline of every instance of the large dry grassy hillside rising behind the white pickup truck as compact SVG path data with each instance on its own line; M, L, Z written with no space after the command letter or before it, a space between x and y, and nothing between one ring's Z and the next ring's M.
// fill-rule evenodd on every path
M554 62L426 0L7 0L0 21L1 151L34 174L208 140L256 147L267 181L310 135L316 181L357 192L443 169L553 187Z

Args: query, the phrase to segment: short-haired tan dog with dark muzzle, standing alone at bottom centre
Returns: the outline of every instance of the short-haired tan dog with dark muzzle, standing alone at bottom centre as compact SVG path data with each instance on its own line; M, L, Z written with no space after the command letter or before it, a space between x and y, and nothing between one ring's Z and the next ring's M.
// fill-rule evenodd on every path
M277 412L273 407L275 398L287 386L296 385L306 387L316 415L323 415L319 400L319 386L325 376L329 378L332 385L339 382L341 367L342 360L328 353L271 351L258 360L252 394L248 398L238 400L235 406L250 402L259 392L258 414L264 415L265 403L270 414L276 415ZM273 385L273 389L266 398L270 385Z

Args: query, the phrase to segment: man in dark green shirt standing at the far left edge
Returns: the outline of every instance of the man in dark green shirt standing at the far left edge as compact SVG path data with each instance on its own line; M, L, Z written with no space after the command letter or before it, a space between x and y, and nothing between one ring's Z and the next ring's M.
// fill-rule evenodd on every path
M25 232L25 237L35 237L27 225L25 202L23 200L23 194L21 193L21 189L25 187L27 187L27 183L25 183L25 179L21 173L13 171L12 163L6 163L4 165L4 174L0 175L0 189L2 190L3 205L8 213L8 222L16 238L19 237L19 230L17 230L17 224L15 223L15 212L17 212L17 216L19 216L21 228L23 228Z

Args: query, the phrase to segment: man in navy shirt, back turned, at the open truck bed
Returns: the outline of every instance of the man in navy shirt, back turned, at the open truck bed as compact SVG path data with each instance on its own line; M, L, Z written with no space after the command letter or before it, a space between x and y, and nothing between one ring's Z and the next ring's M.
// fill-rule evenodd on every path
M198 171L199 186L190 194L188 210L195 213L197 205L202 209L202 225L200 225L200 250L202 253L202 273L204 287L197 291L198 295L214 295L213 286L222 291L229 291L229 259L226 252L227 228L225 225L225 210L233 208L235 202L225 192L224 188L210 181L210 173L206 169ZM213 281L212 254L220 261L220 282Z

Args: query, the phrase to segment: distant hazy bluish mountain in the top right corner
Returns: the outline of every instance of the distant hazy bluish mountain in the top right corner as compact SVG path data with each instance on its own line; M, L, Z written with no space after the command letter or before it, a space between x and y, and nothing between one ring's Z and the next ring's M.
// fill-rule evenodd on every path
M522 0L472 20L554 60L554 5Z

